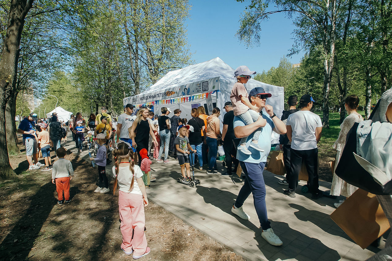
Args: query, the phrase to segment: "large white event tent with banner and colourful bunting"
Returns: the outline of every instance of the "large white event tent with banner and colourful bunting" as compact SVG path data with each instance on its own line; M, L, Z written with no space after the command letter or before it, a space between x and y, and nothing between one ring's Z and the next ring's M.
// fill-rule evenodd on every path
M230 92L236 82L234 71L219 57L207 62L189 65L168 72L144 92L124 98L123 103L124 106L131 103L136 108L147 105L152 107L154 113L158 115L161 114L162 107L168 107L171 111L180 109L180 117L189 120L192 118L191 109L200 105L207 107L207 100L210 100L211 97L210 101L212 101L213 106L221 109L220 120L223 121L225 110L222 108L226 101L230 101ZM266 84L254 79L250 79L245 87L248 92L255 87L263 87L266 92L271 93L272 97L268 98L267 104L272 105L276 116L281 117L284 109L283 87ZM273 133L272 136L272 144L278 143L278 134Z

